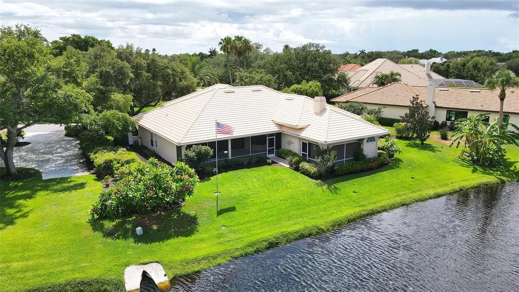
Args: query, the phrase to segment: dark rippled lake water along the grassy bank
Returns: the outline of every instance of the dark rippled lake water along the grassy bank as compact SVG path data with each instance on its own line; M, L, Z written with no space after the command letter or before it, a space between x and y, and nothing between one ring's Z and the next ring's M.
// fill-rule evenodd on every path
M176 278L172 291L519 291L519 183L370 216Z

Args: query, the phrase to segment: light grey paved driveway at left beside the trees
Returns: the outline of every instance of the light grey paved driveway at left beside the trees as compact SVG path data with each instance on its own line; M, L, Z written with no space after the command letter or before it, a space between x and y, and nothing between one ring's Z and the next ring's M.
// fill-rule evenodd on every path
M36 168L43 179L88 174L85 157L79 150L79 141L65 137L63 126L34 125L25 129L22 142L29 145L15 147L17 167ZM3 163L2 163L3 167Z

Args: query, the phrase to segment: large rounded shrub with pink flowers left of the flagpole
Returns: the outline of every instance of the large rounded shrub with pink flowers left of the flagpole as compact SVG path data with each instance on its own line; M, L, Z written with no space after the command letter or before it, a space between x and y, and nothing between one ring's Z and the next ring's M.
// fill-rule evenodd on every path
M173 167L149 159L149 164L126 166L117 171L117 182L101 192L90 215L116 218L171 207L192 196L198 176L183 162Z

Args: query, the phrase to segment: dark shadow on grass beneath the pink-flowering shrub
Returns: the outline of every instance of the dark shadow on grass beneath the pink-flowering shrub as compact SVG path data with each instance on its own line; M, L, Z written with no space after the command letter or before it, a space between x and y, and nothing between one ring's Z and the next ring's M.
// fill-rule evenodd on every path
M174 237L188 237L198 230L198 218L180 209L153 214L140 214L127 218L110 220L90 220L94 232L101 232L105 238L113 240L133 239L136 243L163 242ZM143 235L137 235L135 228L142 227Z

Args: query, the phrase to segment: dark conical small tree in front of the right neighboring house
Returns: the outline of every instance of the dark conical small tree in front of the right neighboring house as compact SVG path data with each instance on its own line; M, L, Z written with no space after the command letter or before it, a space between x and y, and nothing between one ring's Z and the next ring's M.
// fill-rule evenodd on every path
M413 96L409 112L402 116L402 122L405 123L404 128L424 144L431 136L434 117L429 115L425 102Z

